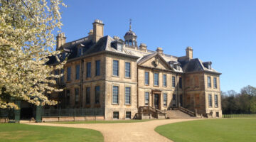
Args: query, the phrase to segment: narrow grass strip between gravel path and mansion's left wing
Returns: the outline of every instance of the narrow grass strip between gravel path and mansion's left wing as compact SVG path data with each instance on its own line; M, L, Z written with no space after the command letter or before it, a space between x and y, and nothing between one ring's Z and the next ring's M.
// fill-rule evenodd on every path
M50 122L54 124L121 124L121 123L136 123L150 121L149 119L144 120L112 120L112 121L60 121Z

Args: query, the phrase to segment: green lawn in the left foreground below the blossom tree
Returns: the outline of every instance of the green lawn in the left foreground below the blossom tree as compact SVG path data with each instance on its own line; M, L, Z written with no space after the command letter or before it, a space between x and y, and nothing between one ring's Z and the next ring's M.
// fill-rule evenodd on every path
M0 124L1 142L42 141L78 142L104 141L102 133L90 129L74 129L27 124Z

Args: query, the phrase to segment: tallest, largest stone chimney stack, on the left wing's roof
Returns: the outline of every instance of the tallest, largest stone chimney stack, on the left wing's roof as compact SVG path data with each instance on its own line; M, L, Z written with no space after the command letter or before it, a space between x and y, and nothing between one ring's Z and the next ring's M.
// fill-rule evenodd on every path
M97 41L103 37L104 24L102 23L101 20L96 19L95 22L92 23L92 25L93 25L92 41L94 43L97 43Z

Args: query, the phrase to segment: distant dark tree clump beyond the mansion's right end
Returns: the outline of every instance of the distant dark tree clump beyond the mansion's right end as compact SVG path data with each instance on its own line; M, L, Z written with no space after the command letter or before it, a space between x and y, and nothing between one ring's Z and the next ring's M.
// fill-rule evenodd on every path
M256 88L243 87L240 93L230 90L221 92L223 114L255 114Z

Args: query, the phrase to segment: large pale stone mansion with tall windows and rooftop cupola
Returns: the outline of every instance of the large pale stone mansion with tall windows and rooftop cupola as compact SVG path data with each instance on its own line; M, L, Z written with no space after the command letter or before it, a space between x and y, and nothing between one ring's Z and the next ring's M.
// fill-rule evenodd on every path
M131 25L124 39L104 35L100 20L92 26L85 38L67 43L64 33L56 37L60 58L68 58L64 69L54 72L64 73L56 81L65 90L51 95L60 95L62 108L102 108L106 120L134 119L142 113L140 108L156 113L183 108L197 116L222 116L221 74L212 62L193 58L191 47L176 57L163 48L152 51L138 44ZM51 58L49 64L56 61Z

